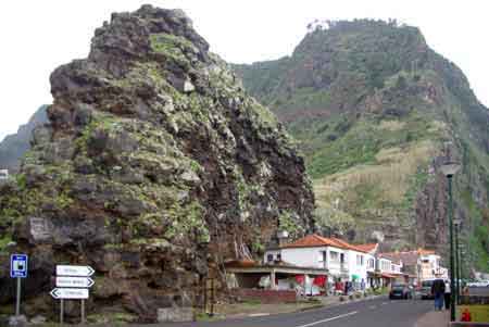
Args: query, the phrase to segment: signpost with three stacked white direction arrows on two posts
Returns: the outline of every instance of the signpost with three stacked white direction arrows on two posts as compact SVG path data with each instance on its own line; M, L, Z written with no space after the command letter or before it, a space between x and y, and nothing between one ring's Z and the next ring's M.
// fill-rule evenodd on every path
M88 289L95 281L90 278L95 269L90 266L57 265L57 287L51 297L60 302L60 323L63 324L64 300L82 300L82 324L85 324L85 300L88 299Z

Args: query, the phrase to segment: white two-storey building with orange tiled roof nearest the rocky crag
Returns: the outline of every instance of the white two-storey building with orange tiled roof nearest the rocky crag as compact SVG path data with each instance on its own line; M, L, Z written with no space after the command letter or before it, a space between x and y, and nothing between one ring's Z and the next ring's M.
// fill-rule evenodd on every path
M367 267L373 255L363 249L337 238L309 235L292 243L265 252L264 262L281 261L300 267L324 268L330 281L353 281L367 285ZM375 264L374 264L375 265Z

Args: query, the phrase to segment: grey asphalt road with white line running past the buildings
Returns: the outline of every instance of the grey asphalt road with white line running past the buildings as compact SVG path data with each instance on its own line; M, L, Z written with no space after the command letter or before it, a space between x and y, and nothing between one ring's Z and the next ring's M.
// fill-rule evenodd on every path
M300 313L212 323L163 324L168 327L413 327L432 310L432 301L374 299Z

